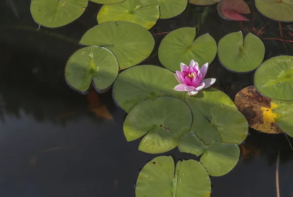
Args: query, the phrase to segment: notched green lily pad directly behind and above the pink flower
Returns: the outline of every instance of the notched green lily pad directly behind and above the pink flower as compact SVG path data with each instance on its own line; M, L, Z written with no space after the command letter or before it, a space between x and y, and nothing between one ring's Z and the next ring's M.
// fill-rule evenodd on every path
M217 53L216 41L205 34L194 40L195 28L184 27L172 31L162 40L159 47L159 59L170 71L180 70L180 63L189 65L190 59L200 66L211 62Z

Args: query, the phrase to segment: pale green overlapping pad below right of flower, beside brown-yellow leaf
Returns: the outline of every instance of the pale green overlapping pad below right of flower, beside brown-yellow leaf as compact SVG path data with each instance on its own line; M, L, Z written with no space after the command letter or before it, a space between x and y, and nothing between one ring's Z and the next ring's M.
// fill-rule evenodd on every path
M241 144L248 135L248 122L237 109L214 106L209 109L210 123L217 129L221 142Z

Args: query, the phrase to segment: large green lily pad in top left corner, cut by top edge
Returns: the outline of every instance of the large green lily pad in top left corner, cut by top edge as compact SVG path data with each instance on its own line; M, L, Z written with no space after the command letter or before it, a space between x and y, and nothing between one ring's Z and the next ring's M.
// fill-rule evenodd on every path
M78 19L88 0L31 0L30 12L42 26L56 28Z

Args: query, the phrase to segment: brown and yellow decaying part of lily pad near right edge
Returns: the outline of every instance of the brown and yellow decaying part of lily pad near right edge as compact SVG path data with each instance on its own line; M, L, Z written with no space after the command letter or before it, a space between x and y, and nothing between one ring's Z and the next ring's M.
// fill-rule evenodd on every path
M269 134L284 133L272 116L271 99L260 94L254 86L246 87L238 92L235 105L245 116L251 128Z

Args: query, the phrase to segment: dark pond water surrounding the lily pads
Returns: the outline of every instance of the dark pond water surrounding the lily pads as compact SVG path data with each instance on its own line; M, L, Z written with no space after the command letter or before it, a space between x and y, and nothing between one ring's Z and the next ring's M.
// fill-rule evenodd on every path
M181 16L160 20L150 31L158 34L197 26L199 35L209 32L219 41L233 31L257 33L269 22L259 36L280 39L278 22L264 18L248 3L253 13L250 22L223 20L216 6L188 5ZM66 60L80 48L83 34L97 24L100 5L90 2L79 20L63 28L39 31L29 5L29 0L0 2L0 197L135 197L139 170L158 155L138 151L139 140L126 142L126 113L114 104L111 91L99 95L96 100L100 102L89 106L88 98L71 90L64 80ZM293 24L281 25L282 36L293 39L289 33ZM157 49L163 37L154 36L156 48L144 64L160 65ZM290 42L263 41L265 59L293 55ZM232 99L253 84L253 74L229 73L217 59L208 75L216 77L215 86ZM225 176L211 177L211 197L276 197L279 152L280 196L293 197L289 141L293 144L293 139L283 134L251 129L236 167ZM194 158L177 148L167 154L176 160Z

